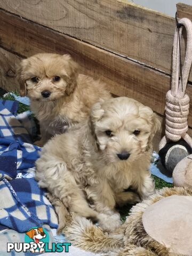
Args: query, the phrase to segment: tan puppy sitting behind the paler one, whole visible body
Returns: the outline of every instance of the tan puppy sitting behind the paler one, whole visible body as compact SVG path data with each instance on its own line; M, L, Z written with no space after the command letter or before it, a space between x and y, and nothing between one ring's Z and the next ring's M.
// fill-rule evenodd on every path
M111 97L105 84L79 75L77 63L68 54L40 53L22 60L17 76L20 94L30 98L41 127L38 146L88 118L95 102Z

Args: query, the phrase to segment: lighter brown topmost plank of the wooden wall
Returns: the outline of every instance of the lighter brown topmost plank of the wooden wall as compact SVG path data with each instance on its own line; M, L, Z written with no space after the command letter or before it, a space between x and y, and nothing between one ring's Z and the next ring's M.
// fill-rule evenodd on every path
M171 73L175 21L164 14L121 0L2 0L0 7Z

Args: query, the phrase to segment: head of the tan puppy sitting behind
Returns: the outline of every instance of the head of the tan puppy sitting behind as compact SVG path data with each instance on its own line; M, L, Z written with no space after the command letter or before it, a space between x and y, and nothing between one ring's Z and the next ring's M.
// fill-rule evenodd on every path
M22 60L17 72L20 95L41 101L53 101L71 94L77 76L77 64L67 54L36 54Z

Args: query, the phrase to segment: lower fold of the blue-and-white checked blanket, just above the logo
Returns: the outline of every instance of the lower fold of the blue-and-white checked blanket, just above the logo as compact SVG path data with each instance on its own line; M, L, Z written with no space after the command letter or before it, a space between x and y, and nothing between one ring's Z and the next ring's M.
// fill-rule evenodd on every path
M57 216L44 192L33 178L0 181L0 223L19 232L43 223L57 228Z

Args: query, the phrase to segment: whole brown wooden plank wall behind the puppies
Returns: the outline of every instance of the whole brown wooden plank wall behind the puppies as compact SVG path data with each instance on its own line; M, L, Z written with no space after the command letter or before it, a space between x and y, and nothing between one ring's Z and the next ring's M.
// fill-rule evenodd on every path
M192 19L191 6L177 9L180 18ZM174 29L173 18L123 0L1 0L0 86L18 89L15 67L21 58L70 53L82 73L101 78L115 95L151 107L163 122ZM190 84L192 74L187 89L192 97Z

